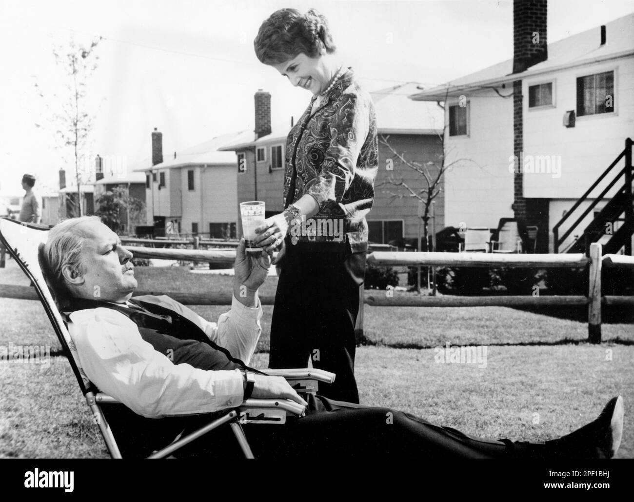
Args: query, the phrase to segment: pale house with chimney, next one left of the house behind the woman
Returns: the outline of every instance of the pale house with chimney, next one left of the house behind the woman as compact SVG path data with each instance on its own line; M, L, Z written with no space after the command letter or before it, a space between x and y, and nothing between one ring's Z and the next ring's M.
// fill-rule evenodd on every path
M253 131L217 136L163 158L162 133L152 132L152 160L133 169L145 173L147 220L156 235L192 234L236 238L236 160L219 146Z

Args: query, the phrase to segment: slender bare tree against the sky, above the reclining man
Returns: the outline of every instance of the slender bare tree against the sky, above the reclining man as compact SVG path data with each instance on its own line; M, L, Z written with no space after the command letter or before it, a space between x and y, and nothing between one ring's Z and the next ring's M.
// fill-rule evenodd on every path
M99 56L96 55L95 49L101 39L102 37L94 38L87 45L71 40L67 46L53 49L56 65L65 75L63 95L53 93L48 98L42 92L41 86L37 82L35 84L39 95L46 101L49 122L55 127L60 148L65 153L68 149L72 152L77 181L77 201L72 201L72 204L75 205L77 216L83 216L81 186L86 181L86 174L92 171L82 169L82 165L91 165L90 160L86 158L86 147L94 120L94 115L88 112L86 91L87 83L97 68ZM41 127L40 124L36 126Z

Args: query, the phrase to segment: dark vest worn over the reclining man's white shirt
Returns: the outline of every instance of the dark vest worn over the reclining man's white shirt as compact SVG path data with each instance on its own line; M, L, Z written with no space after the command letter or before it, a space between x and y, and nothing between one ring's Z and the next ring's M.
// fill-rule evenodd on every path
M147 299L146 299L147 300ZM187 363L200 370L249 369L243 361L215 344L190 319L151 301L131 299L133 308L101 300L73 299L64 314L105 307L121 312L139 328L141 338L174 364ZM136 308L135 308L136 307ZM257 371L261 373L261 371Z

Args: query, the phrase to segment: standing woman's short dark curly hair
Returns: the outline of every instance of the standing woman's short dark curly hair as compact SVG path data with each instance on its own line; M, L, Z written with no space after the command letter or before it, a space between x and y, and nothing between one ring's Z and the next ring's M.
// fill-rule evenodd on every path
M302 15L296 9L280 9L264 21L253 41L257 58L265 65L288 61L304 53L310 58L335 52L328 21L311 9Z

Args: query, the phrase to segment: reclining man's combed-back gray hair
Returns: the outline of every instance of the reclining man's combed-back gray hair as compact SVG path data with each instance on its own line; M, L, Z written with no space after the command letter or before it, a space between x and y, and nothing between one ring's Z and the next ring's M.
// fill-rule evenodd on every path
M70 218L56 224L49 231L44 245L42 259L46 266L44 278L55 297L58 306L64 306L70 296L70 290L63 276L63 269L69 266L77 274L84 274L81 255L84 241L90 235L81 228L84 223L101 222L98 216Z

